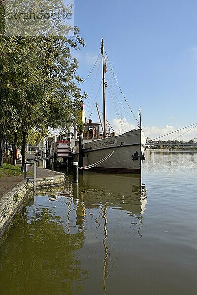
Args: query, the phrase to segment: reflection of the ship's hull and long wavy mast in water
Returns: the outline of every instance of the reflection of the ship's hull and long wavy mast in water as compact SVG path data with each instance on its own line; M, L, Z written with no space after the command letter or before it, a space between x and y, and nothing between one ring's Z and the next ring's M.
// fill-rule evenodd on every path
M101 223L103 228L102 244L104 259L102 286L104 294L107 295L108 257L111 254L110 247L107 246L108 231L111 236L111 231L108 230L107 224L108 210L116 210L112 214L112 218L116 214L120 217L118 210L123 210L124 213L131 216L130 224L132 226L132 232L137 233L141 237L140 227L142 225L142 215L147 204L145 185L142 184L140 175L83 172L80 176L79 184L74 183L73 185L73 202L77 205L76 224L80 226L79 229L85 228L86 209L90 210L89 212L92 209L99 209L99 215L95 218L95 222L98 224L96 229L101 226ZM110 215L109 213L109 218L111 219ZM121 221L119 220L113 226L113 230L117 234L120 224ZM132 233L133 236L135 234ZM94 243L94 241L92 242ZM113 239L111 243L114 246Z

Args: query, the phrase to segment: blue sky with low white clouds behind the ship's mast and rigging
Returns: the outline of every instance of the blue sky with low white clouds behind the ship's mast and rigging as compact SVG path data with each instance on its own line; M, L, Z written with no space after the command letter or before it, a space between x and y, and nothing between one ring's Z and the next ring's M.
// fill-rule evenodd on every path
M101 38L104 38L113 72L136 117L141 108L142 126L147 137L155 139L197 122L196 0L75 0L74 5L74 23L86 44L73 53L79 61L81 78L85 79L93 68ZM112 89L115 92L117 87L112 81L108 60L107 67L105 78L111 85L106 93L108 121L116 132L123 124L125 130L136 128L124 111L127 109L131 114L120 94L116 95L123 103L117 103L114 111ZM99 120L94 100L101 75L97 63L88 79L79 86L88 93L86 118L93 105L95 115L91 118L94 121ZM101 112L101 91L98 94ZM186 130L189 129L191 127ZM197 137L197 127L188 133L186 130L162 139Z

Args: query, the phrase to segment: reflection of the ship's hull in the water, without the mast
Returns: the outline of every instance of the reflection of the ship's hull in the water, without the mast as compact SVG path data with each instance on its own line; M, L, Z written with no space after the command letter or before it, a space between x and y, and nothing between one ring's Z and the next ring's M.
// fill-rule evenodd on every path
M100 208L103 212L107 207L124 210L142 224L146 189L140 175L83 172L79 183L73 184L73 202L77 205L76 224L83 227L86 209ZM99 223L98 219L96 222Z

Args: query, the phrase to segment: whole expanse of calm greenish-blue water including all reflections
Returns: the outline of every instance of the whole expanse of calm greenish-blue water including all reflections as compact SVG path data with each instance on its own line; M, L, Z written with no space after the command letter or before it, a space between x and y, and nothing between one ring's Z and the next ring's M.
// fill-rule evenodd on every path
M1 295L196 294L197 153L71 180L30 195L3 237Z

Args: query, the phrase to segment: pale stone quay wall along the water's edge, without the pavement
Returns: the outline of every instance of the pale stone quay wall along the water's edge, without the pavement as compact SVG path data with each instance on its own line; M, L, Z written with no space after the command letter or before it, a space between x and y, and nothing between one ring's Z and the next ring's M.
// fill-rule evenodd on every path
M57 174L57 172L56 172ZM66 182L64 173L36 179L36 188L58 186ZM0 237L10 225L15 214L24 204L26 196L33 190L33 183L22 180L0 199Z

